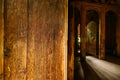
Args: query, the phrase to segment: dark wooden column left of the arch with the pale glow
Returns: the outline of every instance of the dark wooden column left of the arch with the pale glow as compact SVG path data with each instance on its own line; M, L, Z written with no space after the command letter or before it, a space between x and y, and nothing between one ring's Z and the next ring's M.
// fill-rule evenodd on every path
M85 60L86 56L86 10L82 8L81 14L81 59Z

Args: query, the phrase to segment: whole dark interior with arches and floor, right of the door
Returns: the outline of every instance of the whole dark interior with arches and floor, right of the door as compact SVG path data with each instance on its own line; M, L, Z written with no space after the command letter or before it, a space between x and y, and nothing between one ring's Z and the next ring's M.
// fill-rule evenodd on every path
M68 80L73 74L74 80L119 80L119 7L108 0L70 1Z

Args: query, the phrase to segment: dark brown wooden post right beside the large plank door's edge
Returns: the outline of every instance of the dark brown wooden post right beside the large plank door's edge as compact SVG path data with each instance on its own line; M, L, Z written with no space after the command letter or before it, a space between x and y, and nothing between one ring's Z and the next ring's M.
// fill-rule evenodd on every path
M74 80L74 10L68 27L68 80Z

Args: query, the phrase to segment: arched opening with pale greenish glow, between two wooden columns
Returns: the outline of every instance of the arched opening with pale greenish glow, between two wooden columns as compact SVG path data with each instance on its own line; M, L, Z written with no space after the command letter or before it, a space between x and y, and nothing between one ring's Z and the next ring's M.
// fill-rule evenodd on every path
M99 49L99 14L95 10L87 11L86 52L98 56Z

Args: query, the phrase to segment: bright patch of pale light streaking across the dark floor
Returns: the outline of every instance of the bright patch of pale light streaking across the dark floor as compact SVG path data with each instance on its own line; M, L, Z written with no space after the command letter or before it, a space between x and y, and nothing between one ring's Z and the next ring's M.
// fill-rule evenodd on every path
M120 79L120 65L99 60L92 56L87 56L86 61L102 80Z

